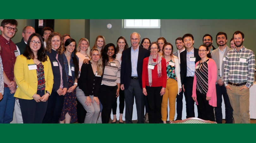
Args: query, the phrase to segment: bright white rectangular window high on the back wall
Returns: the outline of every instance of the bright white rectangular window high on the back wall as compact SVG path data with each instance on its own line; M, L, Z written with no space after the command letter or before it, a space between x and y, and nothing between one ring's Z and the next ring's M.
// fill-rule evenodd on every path
M160 19L124 19L124 28L160 28Z

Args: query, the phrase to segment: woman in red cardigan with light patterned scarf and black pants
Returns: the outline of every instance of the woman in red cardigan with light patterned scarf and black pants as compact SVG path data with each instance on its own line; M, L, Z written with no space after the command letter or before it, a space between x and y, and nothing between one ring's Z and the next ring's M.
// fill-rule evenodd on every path
M149 45L151 55L143 60L142 88L148 98L149 123L161 122L161 104L166 87L166 60L159 56L157 42Z

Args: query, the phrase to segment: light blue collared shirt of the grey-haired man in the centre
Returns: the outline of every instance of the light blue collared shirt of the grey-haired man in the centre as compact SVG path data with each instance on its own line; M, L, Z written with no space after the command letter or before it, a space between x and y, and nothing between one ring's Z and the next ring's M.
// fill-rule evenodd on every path
M137 77L137 63L138 63L138 55L139 55L139 45L135 51L131 47L131 76Z

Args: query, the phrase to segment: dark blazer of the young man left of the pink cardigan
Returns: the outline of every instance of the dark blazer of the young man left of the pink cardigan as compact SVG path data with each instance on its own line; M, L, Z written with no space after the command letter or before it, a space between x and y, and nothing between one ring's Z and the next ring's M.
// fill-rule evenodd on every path
M201 60L198 55L198 49L194 48L194 57L196 57L195 64ZM187 50L180 53L180 80L181 85L184 85L187 76Z

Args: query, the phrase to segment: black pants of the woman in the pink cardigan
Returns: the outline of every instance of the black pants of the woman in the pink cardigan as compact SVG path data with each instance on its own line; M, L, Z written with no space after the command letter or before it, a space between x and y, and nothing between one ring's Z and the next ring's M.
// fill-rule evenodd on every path
M209 101L206 100L206 94L200 93L198 90L196 91L196 94L198 107L201 112L201 119L215 122L213 107L210 106Z

